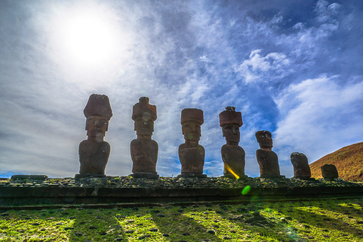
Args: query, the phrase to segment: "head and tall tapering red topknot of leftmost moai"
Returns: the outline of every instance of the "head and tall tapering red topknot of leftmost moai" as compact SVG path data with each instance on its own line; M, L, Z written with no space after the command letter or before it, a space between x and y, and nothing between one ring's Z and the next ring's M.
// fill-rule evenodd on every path
M86 117L87 136L105 137L112 117L109 97L101 94L92 94L83 113Z

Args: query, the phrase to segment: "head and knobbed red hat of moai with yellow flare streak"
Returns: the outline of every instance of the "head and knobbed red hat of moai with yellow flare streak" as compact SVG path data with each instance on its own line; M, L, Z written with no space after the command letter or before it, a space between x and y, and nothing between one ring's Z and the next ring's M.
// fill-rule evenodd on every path
M232 106L219 114L219 126L222 127L223 137L226 141L240 142L240 127L242 126L242 114L236 112Z

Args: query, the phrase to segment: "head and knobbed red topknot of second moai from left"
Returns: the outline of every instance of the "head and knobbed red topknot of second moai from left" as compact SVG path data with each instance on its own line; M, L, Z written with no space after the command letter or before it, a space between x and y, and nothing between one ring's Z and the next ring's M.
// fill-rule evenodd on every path
M140 97L139 102L132 107L132 120L137 135L152 135L156 120L156 106L149 104L148 97Z

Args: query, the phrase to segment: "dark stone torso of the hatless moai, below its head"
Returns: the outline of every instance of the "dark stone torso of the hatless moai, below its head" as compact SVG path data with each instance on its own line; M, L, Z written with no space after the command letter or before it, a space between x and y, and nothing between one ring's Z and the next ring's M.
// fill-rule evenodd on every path
M257 163L260 165L260 176L280 175L277 154L272 150L256 150Z

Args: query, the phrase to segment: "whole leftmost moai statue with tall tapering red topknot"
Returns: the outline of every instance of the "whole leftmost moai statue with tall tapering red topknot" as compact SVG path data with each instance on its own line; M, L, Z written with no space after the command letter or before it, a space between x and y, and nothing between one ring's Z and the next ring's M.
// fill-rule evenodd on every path
M86 116L88 138L79 143L79 174L75 177L104 177L110 156L110 144L103 141L109 128L112 110L106 95L92 94L83 113Z

